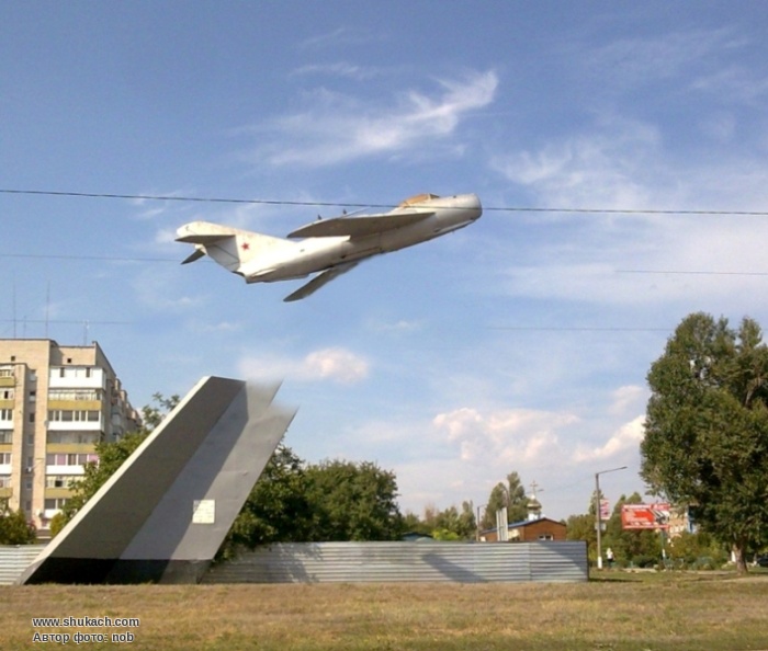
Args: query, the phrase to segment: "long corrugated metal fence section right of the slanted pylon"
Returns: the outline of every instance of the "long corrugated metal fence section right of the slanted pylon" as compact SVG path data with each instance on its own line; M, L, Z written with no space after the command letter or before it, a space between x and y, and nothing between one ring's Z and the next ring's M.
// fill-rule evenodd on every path
M585 542L293 542L246 551L203 583L587 581Z

